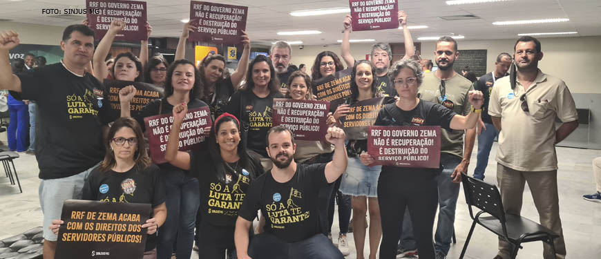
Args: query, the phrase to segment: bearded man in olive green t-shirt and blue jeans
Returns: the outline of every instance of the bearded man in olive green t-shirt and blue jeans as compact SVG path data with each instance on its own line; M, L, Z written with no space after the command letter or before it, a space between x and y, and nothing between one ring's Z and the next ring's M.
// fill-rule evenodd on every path
M472 108L468 102L468 92L474 90L474 87L470 80L453 70L455 59L459 57L457 41L451 37L441 37L437 41L434 55L438 70L423 75L418 96L425 101L442 104L459 115L468 115ZM465 150L464 133L466 134ZM446 258L450 249L455 207L459 198L459 182L461 182L461 173L466 173L468 170L475 136L475 127L466 131L441 131L441 174L437 179L440 209L435 234L437 259ZM413 240L412 230L403 227L401 243L405 239ZM400 250L402 249L399 248Z

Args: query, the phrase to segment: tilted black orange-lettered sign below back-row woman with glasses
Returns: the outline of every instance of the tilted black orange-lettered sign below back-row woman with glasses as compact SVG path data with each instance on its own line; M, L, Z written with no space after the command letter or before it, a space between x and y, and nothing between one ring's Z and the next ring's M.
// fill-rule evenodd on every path
M313 81L313 95L320 101L338 102L349 97L352 68Z

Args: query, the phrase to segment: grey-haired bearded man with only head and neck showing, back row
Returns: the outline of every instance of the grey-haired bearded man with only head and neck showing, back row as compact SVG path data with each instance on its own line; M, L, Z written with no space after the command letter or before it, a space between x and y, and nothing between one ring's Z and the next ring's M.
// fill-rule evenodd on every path
M280 81L280 93L286 96L288 93L288 77L292 75L292 73L297 69L288 66L290 64L290 59L292 59L292 48L290 44L285 41L278 41L271 45L271 49L269 50L269 59L271 59L271 63L274 64L276 68L276 73L278 73L278 81Z

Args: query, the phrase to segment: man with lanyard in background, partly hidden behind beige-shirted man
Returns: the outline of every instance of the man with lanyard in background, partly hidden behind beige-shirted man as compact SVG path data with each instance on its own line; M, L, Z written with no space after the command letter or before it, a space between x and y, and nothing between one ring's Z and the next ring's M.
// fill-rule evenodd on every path
M495 137L499 136L499 131L493 126L493 120L488 115L488 100L490 100L490 93L493 93L493 86L495 81L501 79L507 74L511 66L511 55L506 52L502 52L497 56L495 62L495 70L486 75L481 76L474 88L481 91L484 94L484 106L482 106L482 115L478 122L478 155L476 169L474 170L474 178L484 180L484 171L488 165L488 155L490 155L490 148L493 147Z

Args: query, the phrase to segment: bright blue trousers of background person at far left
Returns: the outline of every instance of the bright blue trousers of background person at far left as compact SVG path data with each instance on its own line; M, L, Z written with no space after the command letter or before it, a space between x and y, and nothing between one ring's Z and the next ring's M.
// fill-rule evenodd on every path
M10 122L8 122L6 132L8 134L8 149L17 152L27 151L27 124L29 123L27 105L8 105L8 112L10 114Z

